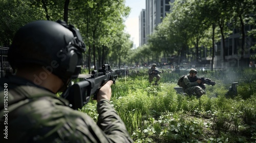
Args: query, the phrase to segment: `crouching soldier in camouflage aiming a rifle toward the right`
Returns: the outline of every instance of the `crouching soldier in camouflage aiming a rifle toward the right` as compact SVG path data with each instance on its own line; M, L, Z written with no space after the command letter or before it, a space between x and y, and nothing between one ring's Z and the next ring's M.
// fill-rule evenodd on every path
M205 85L201 80L197 79L197 70L190 69L189 75L186 75L183 79L184 91L188 95L196 94L197 98L200 98L205 94Z

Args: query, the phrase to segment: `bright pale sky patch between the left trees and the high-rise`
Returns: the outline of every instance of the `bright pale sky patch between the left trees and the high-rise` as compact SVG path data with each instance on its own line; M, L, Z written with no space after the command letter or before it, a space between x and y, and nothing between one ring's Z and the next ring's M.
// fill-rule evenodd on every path
M145 9L145 0L125 0L125 6L131 8L129 17L125 21L125 31L131 35L131 40L136 47L139 46L139 15L142 9Z

